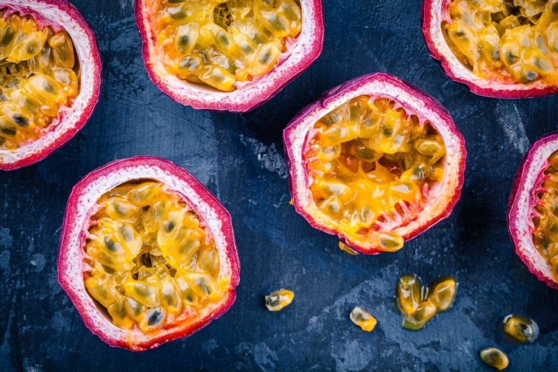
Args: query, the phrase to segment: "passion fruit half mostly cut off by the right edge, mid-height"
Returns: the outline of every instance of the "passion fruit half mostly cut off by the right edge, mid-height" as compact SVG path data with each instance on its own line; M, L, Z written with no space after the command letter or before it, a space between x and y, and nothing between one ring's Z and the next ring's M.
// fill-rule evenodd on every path
M515 176L508 209L515 252L529 271L558 288L558 134L536 141Z

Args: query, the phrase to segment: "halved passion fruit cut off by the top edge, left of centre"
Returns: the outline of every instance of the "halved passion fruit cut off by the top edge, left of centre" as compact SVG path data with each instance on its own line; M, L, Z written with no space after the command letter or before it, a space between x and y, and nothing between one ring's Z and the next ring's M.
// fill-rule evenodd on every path
M249 111L322 52L321 0L136 0L151 80L195 109Z

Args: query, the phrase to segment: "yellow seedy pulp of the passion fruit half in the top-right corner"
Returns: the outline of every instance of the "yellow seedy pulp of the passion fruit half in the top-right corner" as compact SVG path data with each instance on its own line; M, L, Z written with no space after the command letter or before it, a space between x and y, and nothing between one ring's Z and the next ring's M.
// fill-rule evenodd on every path
M558 84L558 0L453 0L448 45L475 75Z

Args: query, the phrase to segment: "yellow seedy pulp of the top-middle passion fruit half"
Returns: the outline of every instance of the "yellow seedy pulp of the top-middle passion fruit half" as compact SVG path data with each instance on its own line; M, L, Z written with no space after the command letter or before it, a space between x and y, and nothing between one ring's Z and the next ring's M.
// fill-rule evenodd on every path
M159 0L156 47L170 73L219 91L266 75L302 29L298 0Z

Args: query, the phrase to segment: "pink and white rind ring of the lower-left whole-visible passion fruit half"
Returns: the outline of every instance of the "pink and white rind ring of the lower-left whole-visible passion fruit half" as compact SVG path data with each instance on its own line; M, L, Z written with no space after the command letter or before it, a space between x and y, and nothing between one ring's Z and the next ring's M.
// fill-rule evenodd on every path
M230 278L231 288L217 304L212 304L191 323L178 323L150 335L140 330L121 330L100 313L84 286L84 245L97 201L110 189L128 180L158 180L180 194L193 208L216 242L220 272ZM92 171L73 187L62 223L58 261L58 281L83 318L84 323L110 346L143 351L161 343L189 336L223 315L234 303L240 281L240 263L229 212L181 167L158 157L116 160Z

